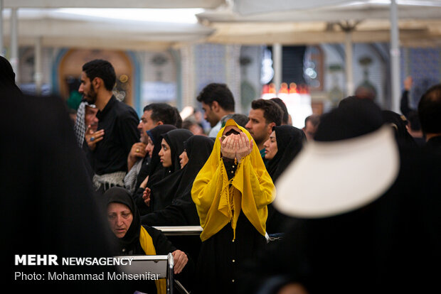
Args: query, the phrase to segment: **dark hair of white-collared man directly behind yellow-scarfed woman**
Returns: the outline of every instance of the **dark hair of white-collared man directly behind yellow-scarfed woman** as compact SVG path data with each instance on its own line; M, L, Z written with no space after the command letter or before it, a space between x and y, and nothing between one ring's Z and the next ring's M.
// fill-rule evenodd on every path
M206 85L196 99L198 102L203 102L210 106L213 101L216 101L226 111L234 111L233 93L225 84L213 82Z

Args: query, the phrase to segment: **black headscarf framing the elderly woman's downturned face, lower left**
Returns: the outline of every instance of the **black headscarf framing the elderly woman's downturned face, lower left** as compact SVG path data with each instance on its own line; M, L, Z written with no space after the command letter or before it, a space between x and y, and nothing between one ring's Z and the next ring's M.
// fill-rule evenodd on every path
M113 234L113 236L115 237L114 240L118 252L121 252L121 249L123 248L129 249L132 248L133 246L136 246L137 243L139 243L139 232L141 230L141 221L139 219L139 212L137 206L134 204L134 200L130 195L129 191L127 191L123 187L111 187L109 190L107 190L104 193L103 197L105 197L106 200L105 202L106 208L112 202L121 203L123 205L127 205L127 207L129 207L133 215L132 224L130 224L127 233L122 238L118 238L117 236L115 236L115 234Z

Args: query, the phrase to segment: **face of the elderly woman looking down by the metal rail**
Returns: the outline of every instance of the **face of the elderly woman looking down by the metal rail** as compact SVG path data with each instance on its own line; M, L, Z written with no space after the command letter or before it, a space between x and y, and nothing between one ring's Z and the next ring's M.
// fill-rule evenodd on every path
M133 214L127 205L112 202L107 205L107 220L113 234L118 238L122 238L127 234L130 224L132 224Z

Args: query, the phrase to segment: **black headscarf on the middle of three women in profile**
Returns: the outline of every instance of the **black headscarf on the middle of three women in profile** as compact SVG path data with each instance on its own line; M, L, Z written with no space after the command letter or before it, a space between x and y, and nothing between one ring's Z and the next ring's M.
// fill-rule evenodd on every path
M171 167L165 169L164 178L161 178L161 180L158 178L156 183L150 184L150 189L152 190L150 206L153 212L171 205L176 196L176 190L179 187L182 176L179 156L184 152L184 141L191 136L193 136L193 133L187 129L176 129L162 135L171 149Z

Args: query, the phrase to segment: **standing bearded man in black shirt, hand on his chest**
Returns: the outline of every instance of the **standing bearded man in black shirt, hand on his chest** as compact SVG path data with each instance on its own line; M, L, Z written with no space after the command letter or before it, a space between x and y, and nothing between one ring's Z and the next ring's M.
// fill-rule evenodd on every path
M139 141L137 113L112 94L115 82L110 62L92 60L83 65L78 92L98 109L97 131L87 128L86 141L92 151L93 183L99 194L112 186L124 187L127 156Z

